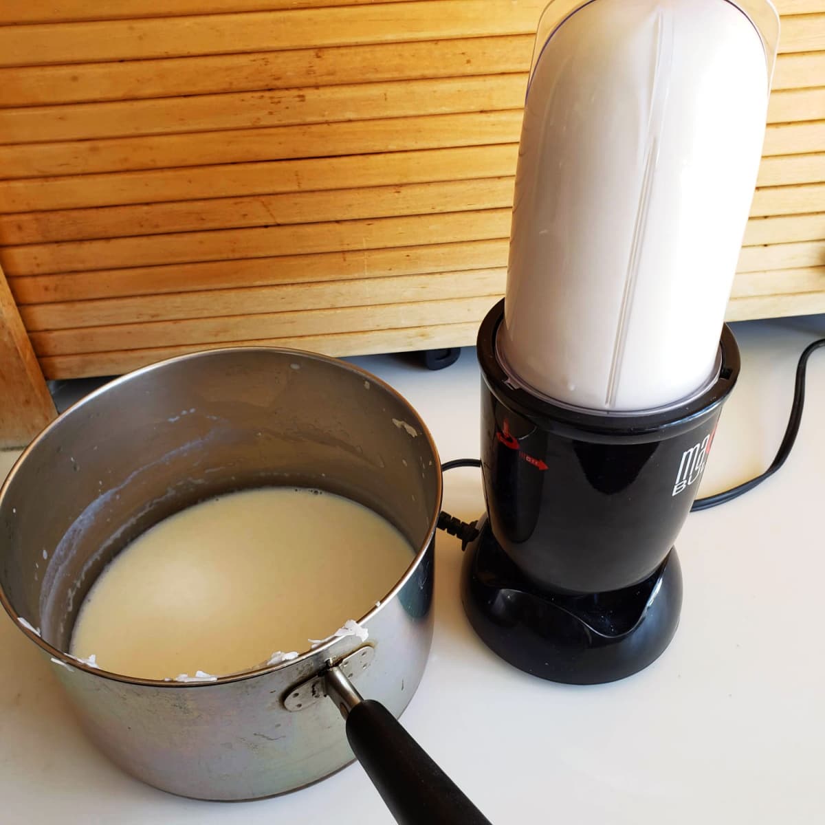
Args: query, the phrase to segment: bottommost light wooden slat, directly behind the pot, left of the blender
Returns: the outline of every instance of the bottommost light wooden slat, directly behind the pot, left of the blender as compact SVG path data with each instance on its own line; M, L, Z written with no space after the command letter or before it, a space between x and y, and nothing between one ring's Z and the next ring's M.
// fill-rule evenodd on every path
M217 349L243 343L253 347L289 347L323 352L330 356L370 355L375 352L403 352L441 347L466 347L475 342L479 324L450 323L440 326L344 332L295 338L262 338L256 341L198 344L194 347L154 347L146 350L99 352L92 355L56 356L40 359L46 378L86 378L116 375L197 350Z

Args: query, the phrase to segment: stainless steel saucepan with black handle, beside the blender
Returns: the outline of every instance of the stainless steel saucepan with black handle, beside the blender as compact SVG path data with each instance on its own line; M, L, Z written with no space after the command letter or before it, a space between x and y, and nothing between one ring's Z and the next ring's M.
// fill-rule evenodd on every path
M332 639L290 662L198 683L127 678L68 655L84 596L130 540L182 507L270 484L355 499L417 548L393 590L376 593L380 605L359 617L366 641ZM308 785L352 760L338 705L368 770L378 754L370 772L394 813L423 821L405 818L417 804L410 792L422 782L437 791L441 777L428 773L437 768L416 752L417 768L393 787L386 771L407 771L390 764L393 754L417 746L359 693L380 700L392 719L421 679L440 507L441 468L427 427L374 376L299 351L196 353L108 384L21 456L0 490L0 601L45 653L88 735L148 784L199 799ZM357 729L356 716L365 719ZM457 792L446 783L436 807Z

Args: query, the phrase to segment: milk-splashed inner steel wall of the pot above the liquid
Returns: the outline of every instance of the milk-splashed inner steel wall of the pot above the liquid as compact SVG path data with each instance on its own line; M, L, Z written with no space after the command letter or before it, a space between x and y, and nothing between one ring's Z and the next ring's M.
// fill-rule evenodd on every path
M0 493L0 596L66 652L89 588L137 535L267 485L360 502L417 553L441 507L426 427L373 376L299 351L196 353L106 385L26 450Z

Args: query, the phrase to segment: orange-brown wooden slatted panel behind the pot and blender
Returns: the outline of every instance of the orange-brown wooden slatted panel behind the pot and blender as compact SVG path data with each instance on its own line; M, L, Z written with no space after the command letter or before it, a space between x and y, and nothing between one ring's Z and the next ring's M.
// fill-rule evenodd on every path
M474 342L545 2L2 0L0 324L49 378ZM733 319L825 310L825 0L778 7Z

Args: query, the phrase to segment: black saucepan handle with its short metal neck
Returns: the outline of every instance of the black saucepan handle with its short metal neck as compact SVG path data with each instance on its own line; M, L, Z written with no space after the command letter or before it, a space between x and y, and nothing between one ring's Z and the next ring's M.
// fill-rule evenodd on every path
M384 705L361 699L337 667L326 681L352 751L399 825L491 825Z

